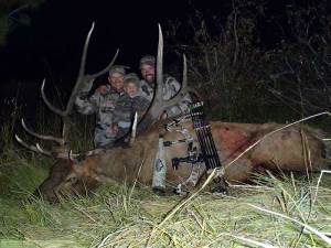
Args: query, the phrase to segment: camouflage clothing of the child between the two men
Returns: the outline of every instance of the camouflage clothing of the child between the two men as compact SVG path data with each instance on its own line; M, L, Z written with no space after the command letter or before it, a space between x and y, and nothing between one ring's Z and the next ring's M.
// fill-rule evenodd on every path
M142 96L130 97L128 94L121 95L116 101L114 111L114 123L118 126L117 139L130 131L135 112L138 112L138 121L149 107L150 101Z

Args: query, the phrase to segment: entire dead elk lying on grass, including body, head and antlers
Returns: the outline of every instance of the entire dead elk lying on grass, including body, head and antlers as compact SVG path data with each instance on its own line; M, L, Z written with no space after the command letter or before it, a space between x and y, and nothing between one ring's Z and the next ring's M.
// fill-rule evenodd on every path
M90 37L89 31L82 56L81 69L76 84L67 101L65 110L60 110L51 105L44 94L42 86L42 97L47 107L62 117L64 122L61 138L43 136L30 130L24 122L22 126L28 133L43 140L56 142L63 152L50 152L39 144L30 145L17 137L17 140L24 147L45 155L57 159L53 165L49 177L39 186L38 191L51 202L57 200L60 194L85 194L100 183L109 180L132 182L138 180L143 184L151 184L152 168L157 154L159 134L163 134L164 141L177 141L183 139L183 134L178 131L168 132L159 121L162 111L169 106L177 104L182 96L191 89L186 82L186 64L184 57L183 80L181 90L170 100L162 100L162 50L163 40L159 28L159 46L157 58L157 82L152 104L137 127L138 137L132 139L126 147L115 147L111 149L95 149L84 154L74 154L66 148L70 142L68 137L70 115L73 111L74 99L81 88L86 83L92 83L94 78L104 74L113 65L113 62L102 72L93 75L85 74L85 60L87 46ZM191 90L192 91L192 90ZM253 125L253 123L225 123L221 121L211 122L211 131L216 145L218 157L225 166L223 177L228 182L244 182L249 180L253 172L264 170L281 171L319 171L327 166L329 147L325 147L319 138L318 130L291 126L280 131L274 132L282 127L276 123ZM191 122L184 122L180 128L186 129L188 133L195 138L195 132ZM266 136L267 133L273 134ZM132 133L132 138L136 133ZM252 144L260 140L249 151L236 159ZM199 147L196 144L195 147ZM188 154L186 143L177 143L166 148L167 182L177 185L185 182L192 172L192 165L180 164L178 170L171 166L172 158L183 158ZM236 159L236 160L234 160ZM199 176L204 173L202 170Z

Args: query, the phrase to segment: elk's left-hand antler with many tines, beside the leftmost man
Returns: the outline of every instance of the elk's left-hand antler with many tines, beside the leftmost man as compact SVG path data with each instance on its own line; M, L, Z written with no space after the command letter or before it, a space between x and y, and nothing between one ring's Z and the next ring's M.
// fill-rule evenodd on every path
M73 154L72 151L68 148L66 148L66 145L70 144L70 142L68 142L70 123L71 123L71 121L70 121L70 115L73 112L75 99L78 96L78 94L82 90L82 88L86 84L92 84L95 80L95 78L97 78L98 76L100 76L100 75L103 75L103 74L105 74L105 73L107 73L109 71L109 68L113 66L113 64L114 64L114 62L115 62L115 60L116 60L116 57L118 55L118 52L119 52L119 50L116 51L116 53L115 53L111 62L104 69L102 69L98 73L92 74L92 75L86 74L85 73L86 57L87 57L88 44L89 44L89 40L90 40L93 31L94 31L94 22L93 22L92 28L89 29L88 34L87 34L86 40L85 40L78 76L77 76L76 83L75 83L75 85L73 87L73 90L71 93L71 96L70 96L70 98L67 100L65 109L61 110L61 109L54 107L51 104L51 101L47 99L47 97L45 95L45 91L44 91L45 79L43 80L42 86L41 86L41 96L42 96L45 105L49 107L49 109L51 109L53 112L55 112L56 115L61 116L61 118L62 118L62 122L63 122L62 137L57 138L57 137L53 137L53 136L44 136L44 134L36 133L36 132L32 131L31 129L29 129L26 127L26 125L24 123L23 119L22 119L22 127L23 127L23 129L29 134L31 134L33 137L36 137L39 139L42 139L42 140L54 141L54 142L56 142L60 145L60 149L62 151L61 152L58 152L58 151L57 152L46 151L46 150L42 149L38 143L35 145L29 145L22 139L20 139L18 136L15 136L15 139L22 145L24 145L25 148L28 148L28 149L30 149L32 151L35 151L35 152L40 152L40 153L45 154L45 155L54 155L56 158L66 158L67 159L67 158L76 158L76 157L79 155L79 154ZM96 150L96 151L99 151L99 149ZM89 153L94 154L93 151L89 151Z

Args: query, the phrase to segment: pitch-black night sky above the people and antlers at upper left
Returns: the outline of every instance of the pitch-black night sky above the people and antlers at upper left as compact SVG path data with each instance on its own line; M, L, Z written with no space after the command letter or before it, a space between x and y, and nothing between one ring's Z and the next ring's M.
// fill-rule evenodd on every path
M271 12L281 15L286 1L270 1ZM93 21L95 31L88 50L88 73L103 69L116 48L120 50L117 64L128 65L137 72L142 55L156 54L157 23L184 21L194 11L201 11L206 20L214 14L223 21L232 9L232 1L68 1L45 0L30 13L30 26L19 26L0 51L1 97L18 95L18 90L32 88L24 99L35 91L43 78L64 90L75 82L83 44ZM222 22L222 19L221 19ZM221 23L222 25L222 23ZM261 24L265 32L263 45L276 44L277 31ZM190 41L183 41L190 42ZM167 46L167 44L166 44ZM167 62L167 57L166 57ZM20 95L20 94L19 94ZM23 94L24 95L24 94Z

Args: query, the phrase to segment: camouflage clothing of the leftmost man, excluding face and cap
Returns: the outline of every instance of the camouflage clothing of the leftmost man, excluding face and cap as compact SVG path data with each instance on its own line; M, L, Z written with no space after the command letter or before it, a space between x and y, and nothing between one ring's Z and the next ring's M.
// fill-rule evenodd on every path
M116 133L111 132L114 121L114 109L116 100L124 93L118 93L107 85L106 93L95 91L90 97L88 93L93 84L83 89L76 98L77 111L83 115L96 114L96 128L94 136L95 147L111 147L116 140Z

